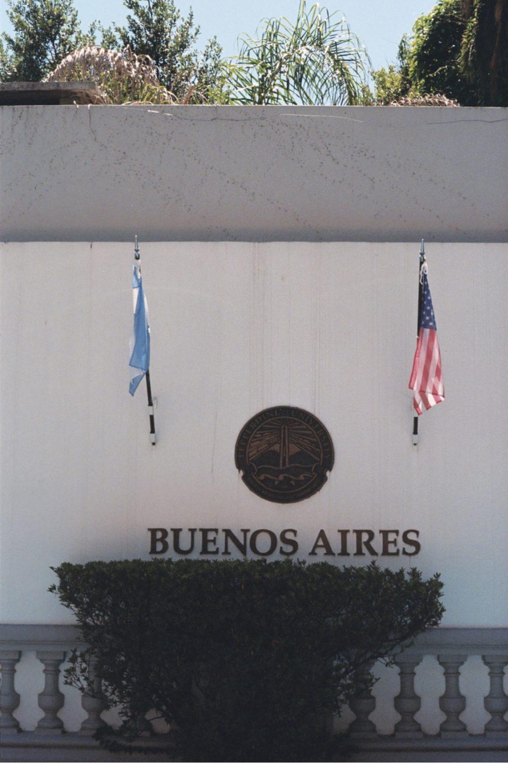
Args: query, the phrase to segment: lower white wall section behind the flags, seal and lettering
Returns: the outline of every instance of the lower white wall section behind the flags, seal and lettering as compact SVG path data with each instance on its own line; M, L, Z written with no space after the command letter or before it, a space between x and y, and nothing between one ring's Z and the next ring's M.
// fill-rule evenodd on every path
M301 558L321 528L416 528L419 555L378 562L440 571L444 625L506 626L508 245L427 246L446 400L417 448L417 243L142 241L156 448L144 388L127 392L132 249L2 246L2 620L71 621L50 565L148 559L149 526L294 527ZM234 465L240 428L276 404L335 446L298 504Z

